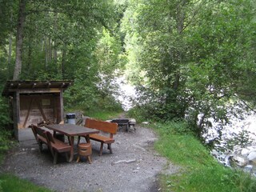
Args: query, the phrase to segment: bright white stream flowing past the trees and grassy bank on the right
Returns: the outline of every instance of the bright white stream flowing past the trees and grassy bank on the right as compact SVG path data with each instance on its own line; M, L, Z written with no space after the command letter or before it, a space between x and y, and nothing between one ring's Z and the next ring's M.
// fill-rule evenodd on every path
M118 78L117 82L120 86L120 95L117 99L122 103L124 110L130 110L133 106L130 98L136 98L134 86L130 86L123 77ZM256 152L256 114L246 114L242 119L230 118L230 124L227 126L212 123L214 126L205 135L206 141L218 138L218 130L222 131L222 139L219 141L218 147L212 150L213 156L225 166L230 166L231 157L242 156L246 159L246 164L242 165L241 168L256 176L256 160L254 165L246 158L250 152ZM234 143L242 144L242 146L228 147L227 141L231 140ZM242 152L245 150L247 150L247 154Z

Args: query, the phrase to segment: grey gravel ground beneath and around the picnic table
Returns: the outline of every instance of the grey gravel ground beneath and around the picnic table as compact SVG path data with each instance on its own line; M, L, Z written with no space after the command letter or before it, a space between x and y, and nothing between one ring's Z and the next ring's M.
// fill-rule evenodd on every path
M22 130L25 131L25 130ZM53 164L50 152L38 149L31 130L29 136L11 150L0 172L10 172L39 186L66 192L147 192L161 191L158 174L174 174L178 167L162 158L154 149L157 139L150 129L137 127L134 133L119 131L112 144L113 154L104 146L98 156L99 142L92 141L92 164L66 162L64 157ZM24 132L25 133L25 132Z

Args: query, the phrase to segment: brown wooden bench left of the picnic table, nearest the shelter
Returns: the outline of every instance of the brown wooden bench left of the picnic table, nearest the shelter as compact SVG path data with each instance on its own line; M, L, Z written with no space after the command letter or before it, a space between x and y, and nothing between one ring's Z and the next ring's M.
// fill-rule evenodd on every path
M53 134L51 134L50 131L43 130L38 126L31 125L30 128L32 129L34 137L38 142L40 151L42 151L43 143L48 146L50 153L54 157L54 164L57 163L59 153L65 153L66 160L68 161L68 153L70 153L71 150L71 146L69 144L62 142L57 138L54 138Z

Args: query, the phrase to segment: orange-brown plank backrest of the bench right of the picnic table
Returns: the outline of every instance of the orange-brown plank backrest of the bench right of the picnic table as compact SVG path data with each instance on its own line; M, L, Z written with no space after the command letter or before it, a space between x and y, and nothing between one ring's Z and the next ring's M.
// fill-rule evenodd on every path
M86 127L96 130L102 130L106 133L116 134L118 131L118 123L115 122L103 122L92 118L86 118Z

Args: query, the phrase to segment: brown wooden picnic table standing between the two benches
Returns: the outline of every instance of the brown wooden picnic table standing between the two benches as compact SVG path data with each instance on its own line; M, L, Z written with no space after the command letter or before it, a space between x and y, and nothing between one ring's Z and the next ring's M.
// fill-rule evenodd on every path
M72 162L74 158L74 136L86 137L86 142L90 142L90 134L99 133L99 130L87 128L85 126L77 126L74 124L50 124L46 125L46 128L53 130L54 134L58 132L60 134L65 134L68 137L71 146L69 162Z

